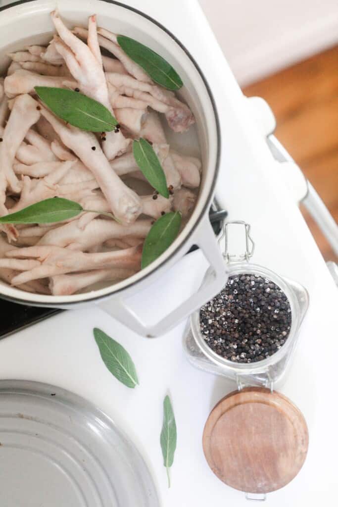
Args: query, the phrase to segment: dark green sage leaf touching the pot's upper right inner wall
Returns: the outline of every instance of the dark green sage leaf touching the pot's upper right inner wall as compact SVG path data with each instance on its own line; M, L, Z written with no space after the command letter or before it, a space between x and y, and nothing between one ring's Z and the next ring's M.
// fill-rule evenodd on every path
M183 86L176 70L158 53L126 35L118 35L117 39L129 58L142 67L155 83L168 90L179 90Z

